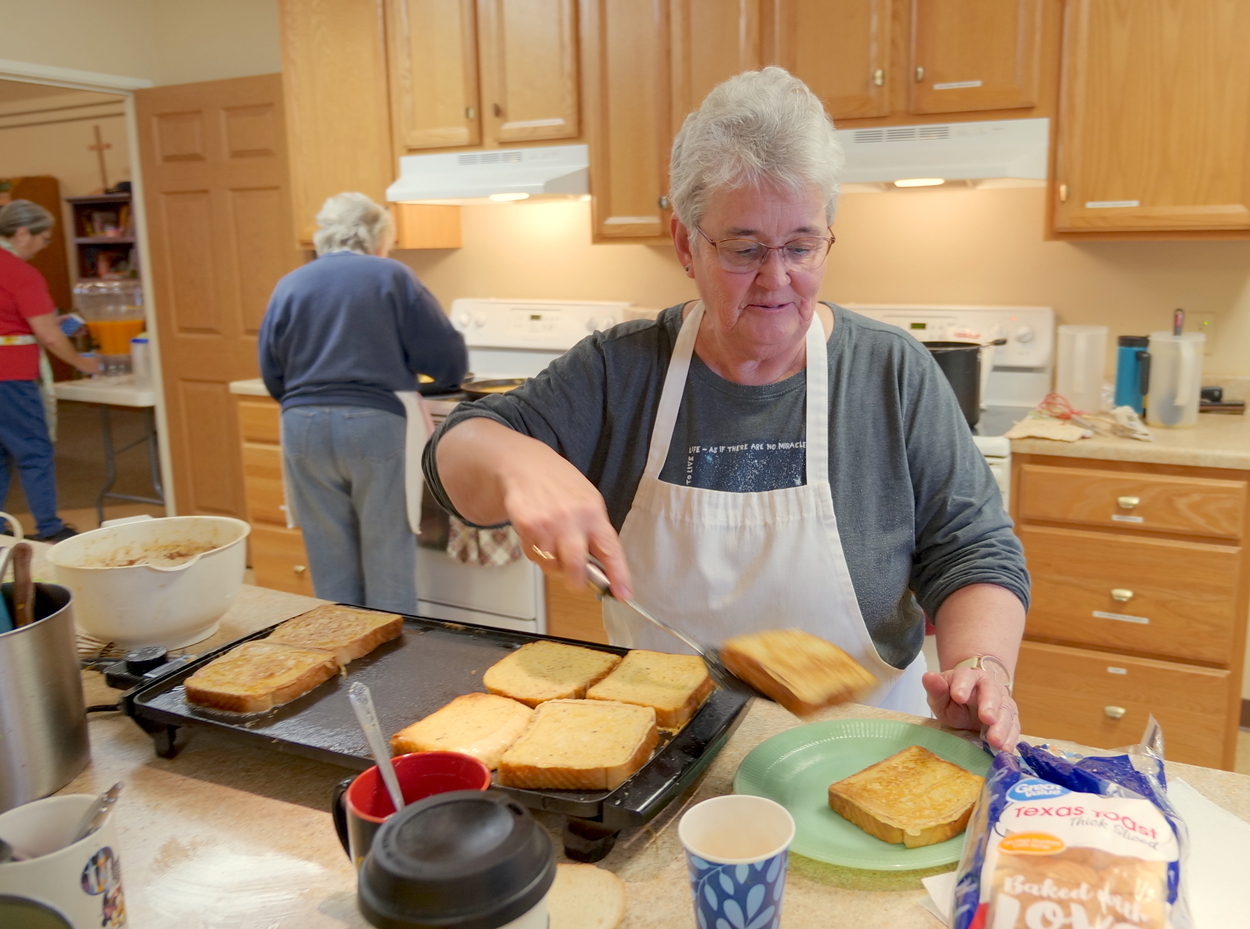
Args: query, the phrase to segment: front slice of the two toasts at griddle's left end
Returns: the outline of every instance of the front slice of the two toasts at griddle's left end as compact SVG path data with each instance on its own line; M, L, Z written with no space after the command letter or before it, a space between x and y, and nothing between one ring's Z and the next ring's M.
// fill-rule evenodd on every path
M324 649L245 641L186 679L186 699L235 713L261 713L306 694L338 673Z

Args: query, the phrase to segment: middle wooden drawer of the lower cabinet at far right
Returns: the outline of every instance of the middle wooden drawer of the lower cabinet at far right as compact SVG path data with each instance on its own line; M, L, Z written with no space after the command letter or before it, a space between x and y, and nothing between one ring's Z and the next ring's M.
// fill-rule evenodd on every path
M1030 638L1162 659L1232 660L1241 549L1018 526Z

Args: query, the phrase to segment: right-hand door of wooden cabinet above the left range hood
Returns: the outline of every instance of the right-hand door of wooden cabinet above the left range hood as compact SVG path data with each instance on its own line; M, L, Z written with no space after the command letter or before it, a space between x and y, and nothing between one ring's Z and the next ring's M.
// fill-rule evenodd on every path
M489 140L578 136L574 0L478 0L478 51Z

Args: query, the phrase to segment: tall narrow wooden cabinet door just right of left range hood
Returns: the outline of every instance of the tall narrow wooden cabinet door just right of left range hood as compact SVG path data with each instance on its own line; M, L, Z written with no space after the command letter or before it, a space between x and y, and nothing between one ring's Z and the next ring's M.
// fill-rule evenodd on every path
M669 3L582 0L596 243L669 235Z

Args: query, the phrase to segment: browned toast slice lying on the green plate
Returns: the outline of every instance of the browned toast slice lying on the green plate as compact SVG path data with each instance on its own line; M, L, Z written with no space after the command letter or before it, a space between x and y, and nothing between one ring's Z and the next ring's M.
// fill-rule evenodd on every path
M911 745L829 785L829 805L894 845L934 845L964 831L984 778Z

